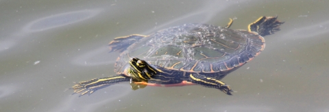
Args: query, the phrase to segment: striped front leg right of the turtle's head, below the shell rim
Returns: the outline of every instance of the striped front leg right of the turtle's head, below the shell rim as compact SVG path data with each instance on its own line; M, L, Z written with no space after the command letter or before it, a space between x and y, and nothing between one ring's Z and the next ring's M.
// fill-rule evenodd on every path
M225 94L232 95L230 92L233 92L232 89L226 83L219 81L217 79L205 76L203 74L190 74L189 77L192 83L202 85L204 87L216 88L224 92Z

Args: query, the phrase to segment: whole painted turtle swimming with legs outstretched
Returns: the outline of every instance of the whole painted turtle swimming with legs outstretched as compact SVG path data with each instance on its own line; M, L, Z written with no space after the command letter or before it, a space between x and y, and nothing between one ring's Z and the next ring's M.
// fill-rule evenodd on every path
M261 16L247 30L189 23L148 36L114 38L110 52L121 53L114 64L117 75L76 83L73 94L93 94L110 85L130 82L132 89L151 86L202 85L234 92L221 79L240 68L265 48L263 36L280 30L278 16Z

